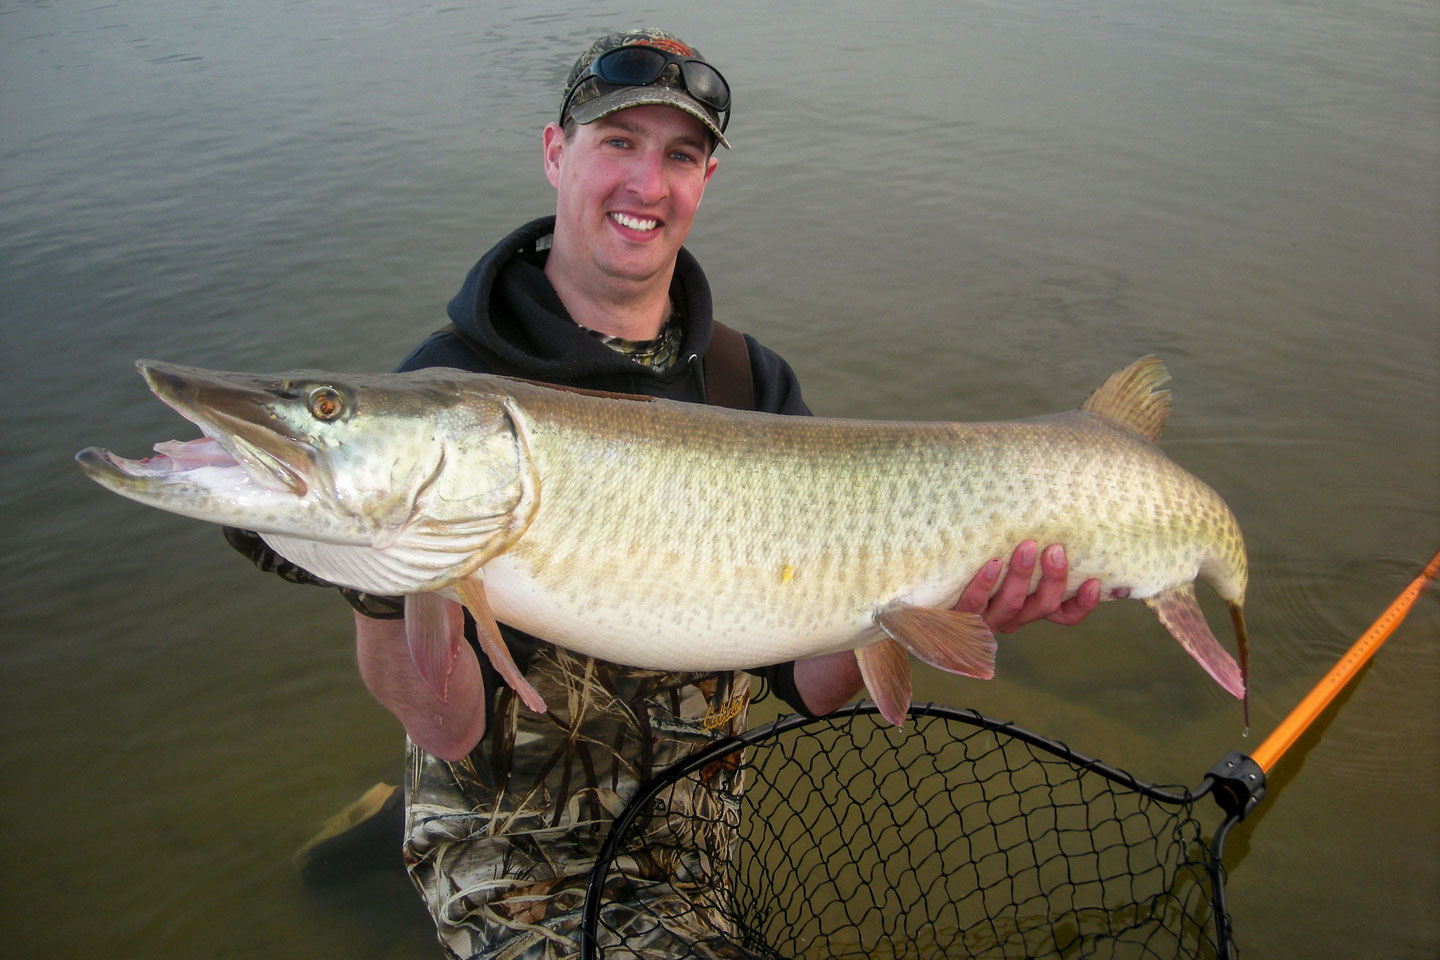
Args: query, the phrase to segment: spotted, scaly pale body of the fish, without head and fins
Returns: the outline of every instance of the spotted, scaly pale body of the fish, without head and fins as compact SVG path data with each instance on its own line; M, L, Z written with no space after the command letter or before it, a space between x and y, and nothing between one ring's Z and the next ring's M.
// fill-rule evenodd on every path
M860 646L876 609L949 606L1024 538L1066 544L1071 590L1096 576L1151 596L1234 528L1208 486L1084 412L886 423L513 393L541 495L487 564L491 603L608 659L716 669Z

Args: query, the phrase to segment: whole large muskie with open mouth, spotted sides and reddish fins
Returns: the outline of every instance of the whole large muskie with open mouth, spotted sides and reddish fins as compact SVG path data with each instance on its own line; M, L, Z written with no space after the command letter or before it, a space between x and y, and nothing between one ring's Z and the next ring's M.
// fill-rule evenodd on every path
M497 619L655 669L854 649L899 724L907 653L994 675L989 629L950 607L1021 540L1064 544L1071 589L1099 577L1104 596L1145 600L1244 697L1192 583L1230 604L1244 662L1244 545L1224 501L1155 448L1169 393L1153 357L1080 410L1004 423L785 417L456 370L137 366L207 439L143 461L89 448L81 468L143 504L255 530L336 584L405 594L410 656L442 698L459 600L533 710L544 702Z

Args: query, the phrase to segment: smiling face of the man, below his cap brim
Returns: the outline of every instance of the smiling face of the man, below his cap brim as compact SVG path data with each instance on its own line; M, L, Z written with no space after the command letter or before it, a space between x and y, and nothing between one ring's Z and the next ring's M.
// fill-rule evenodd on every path
M559 191L554 252L577 284L611 291L670 284L716 160L710 137L674 107L631 107L544 131L546 176Z

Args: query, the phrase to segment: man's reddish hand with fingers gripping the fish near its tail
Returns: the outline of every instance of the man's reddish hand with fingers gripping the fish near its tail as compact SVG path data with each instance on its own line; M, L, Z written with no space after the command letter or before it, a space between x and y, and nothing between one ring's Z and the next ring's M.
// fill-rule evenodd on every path
M960 593L956 610L979 613L995 633L1012 633L1025 623L1053 620L1073 626L1083 620L1100 603L1100 581L1086 580L1068 600L1066 592L1066 551L1060 544L1051 544L1040 553L1040 583L1030 592L1030 579L1035 571L1037 544L1034 540L1015 547L1009 557L1009 569L999 560L991 560ZM1001 580L1001 571L1005 577ZM999 583L999 589L995 584Z

